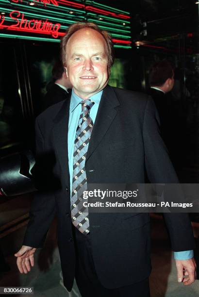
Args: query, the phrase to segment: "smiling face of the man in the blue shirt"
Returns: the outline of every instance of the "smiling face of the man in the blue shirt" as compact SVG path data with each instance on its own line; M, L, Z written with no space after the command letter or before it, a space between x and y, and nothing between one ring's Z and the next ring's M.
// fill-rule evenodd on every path
M82 99L90 98L107 85L107 48L100 33L88 28L73 33L66 45L66 74Z

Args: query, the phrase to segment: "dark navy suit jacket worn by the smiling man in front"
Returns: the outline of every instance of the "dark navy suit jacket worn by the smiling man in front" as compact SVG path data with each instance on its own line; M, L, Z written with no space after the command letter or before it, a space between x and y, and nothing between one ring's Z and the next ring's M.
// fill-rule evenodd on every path
M36 194L23 244L42 247L57 212L64 284L71 290L75 274L75 249L67 165L69 103L65 101L51 106L36 120L37 156L41 160L43 154L49 154L50 159L54 156L53 174L62 186L54 193ZM52 177L46 172L49 165L42 163L38 166L40 176L46 176L47 182L49 180L51 183ZM154 103L146 95L107 86L90 139L86 160L87 181L144 183L145 170L151 183L178 182L159 134ZM194 239L187 214L164 216L172 249L193 249ZM94 264L104 287L122 287L130 285L132 280L137 282L149 276L149 214L91 213L89 220Z

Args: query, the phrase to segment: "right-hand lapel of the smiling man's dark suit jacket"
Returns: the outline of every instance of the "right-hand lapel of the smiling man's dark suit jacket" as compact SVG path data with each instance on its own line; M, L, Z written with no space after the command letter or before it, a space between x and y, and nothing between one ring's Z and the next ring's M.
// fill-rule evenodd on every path
M116 97L113 88L107 85L103 90L101 100L99 103L99 109L91 134L86 161L89 159L94 150L98 147L100 141L109 129L111 123L113 122L117 114L116 107L119 105L119 101Z

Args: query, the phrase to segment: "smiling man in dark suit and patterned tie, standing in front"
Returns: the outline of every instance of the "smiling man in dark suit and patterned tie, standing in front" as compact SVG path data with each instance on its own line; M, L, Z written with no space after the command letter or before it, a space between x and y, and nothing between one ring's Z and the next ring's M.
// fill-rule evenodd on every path
M43 246L56 213L69 291L75 277L83 297L149 297L149 214L88 214L83 207L87 183L144 183L145 173L153 183L178 182L158 131L153 101L107 85L112 50L109 34L93 23L72 25L62 40L72 95L36 119L35 171L49 188L45 190L42 181L24 245L15 256L21 273L31 270L35 249ZM178 281L191 284L195 262L189 218L166 213L165 219L176 252Z

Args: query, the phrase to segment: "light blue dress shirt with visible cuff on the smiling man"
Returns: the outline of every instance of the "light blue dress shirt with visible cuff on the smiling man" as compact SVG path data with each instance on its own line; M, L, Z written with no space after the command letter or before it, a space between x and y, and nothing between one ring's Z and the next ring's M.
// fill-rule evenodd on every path
M95 104L93 105L90 111L90 117L92 118L93 123L95 123L102 92L103 91L100 91L99 93L89 98L95 102ZM80 104L81 101L82 101L82 98L77 96L72 89L72 94L70 99L69 120L68 120L68 167L69 167L69 174L70 174L70 197L72 192L74 142L75 142L75 134L76 134L78 121L82 112L82 105ZM193 250L174 252L174 258L177 260L191 259L193 258Z

